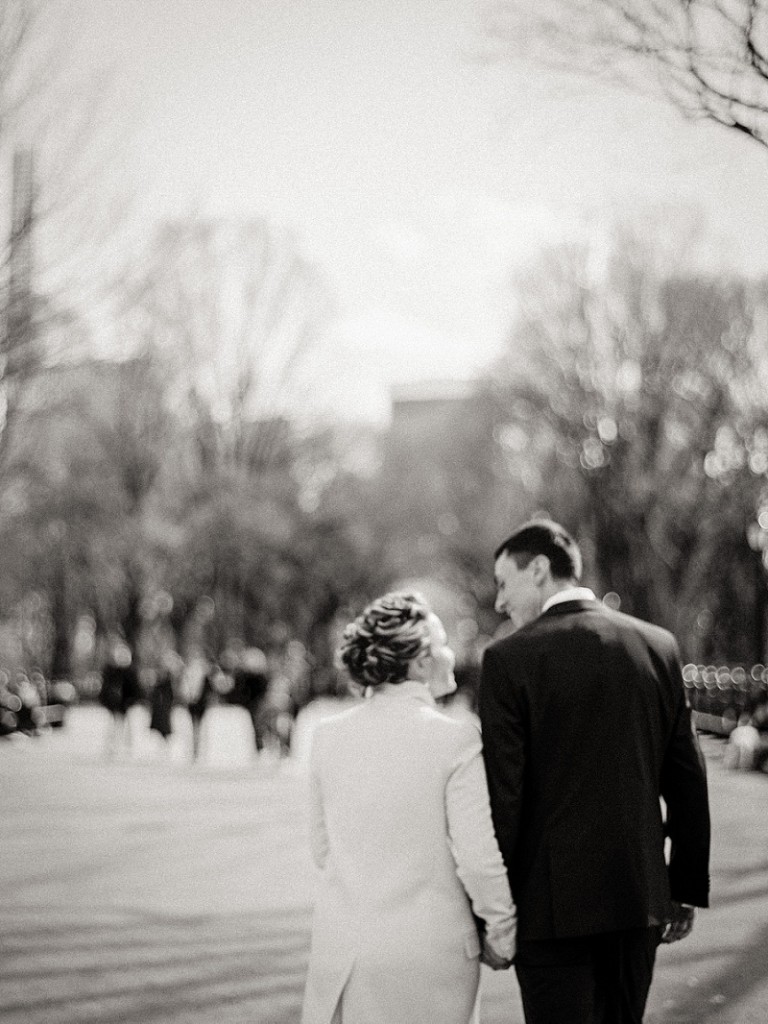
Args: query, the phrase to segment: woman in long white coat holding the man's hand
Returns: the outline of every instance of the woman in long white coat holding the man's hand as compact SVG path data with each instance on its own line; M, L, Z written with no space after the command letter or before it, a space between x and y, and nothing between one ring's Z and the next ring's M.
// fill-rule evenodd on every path
M445 631L419 595L387 594L340 654L369 698L312 744L323 874L302 1024L475 1024L480 953L509 967L515 913L479 730L435 705L456 688Z

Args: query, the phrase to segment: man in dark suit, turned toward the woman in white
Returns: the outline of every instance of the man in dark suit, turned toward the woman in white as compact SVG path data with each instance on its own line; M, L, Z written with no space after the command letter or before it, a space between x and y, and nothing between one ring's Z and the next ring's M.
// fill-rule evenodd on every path
M639 1024L658 942L708 905L707 779L677 644L579 586L557 523L517 529L495 571L515 632L485 651L480 718L525 1020Z

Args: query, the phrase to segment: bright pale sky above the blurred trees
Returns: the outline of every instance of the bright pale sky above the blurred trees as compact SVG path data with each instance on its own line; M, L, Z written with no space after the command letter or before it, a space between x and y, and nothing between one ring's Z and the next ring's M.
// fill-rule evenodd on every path
M481 367L511 269L605 211L700 204L713 258L768 269L768 152L647 97L473 60L474 0L71 7L73 58L115 69L146 230L266 214L324 268L339 313L316 394L347 416Z

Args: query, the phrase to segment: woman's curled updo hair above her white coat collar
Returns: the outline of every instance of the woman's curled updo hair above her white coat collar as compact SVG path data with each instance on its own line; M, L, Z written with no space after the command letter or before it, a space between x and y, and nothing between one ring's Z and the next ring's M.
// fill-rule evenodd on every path
M431 608L421 594L394 591L377 598L344 630L339 657L355 683L401 683L411 663L429 647Z

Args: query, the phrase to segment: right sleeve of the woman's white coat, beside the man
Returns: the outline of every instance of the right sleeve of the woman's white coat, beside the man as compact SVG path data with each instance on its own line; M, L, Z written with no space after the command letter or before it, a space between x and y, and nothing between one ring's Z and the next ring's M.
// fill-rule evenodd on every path
M482 761L480 736L468 725L445 786L451 849L456 869L485 936L511 959L515 951L515 909L499 852Z

